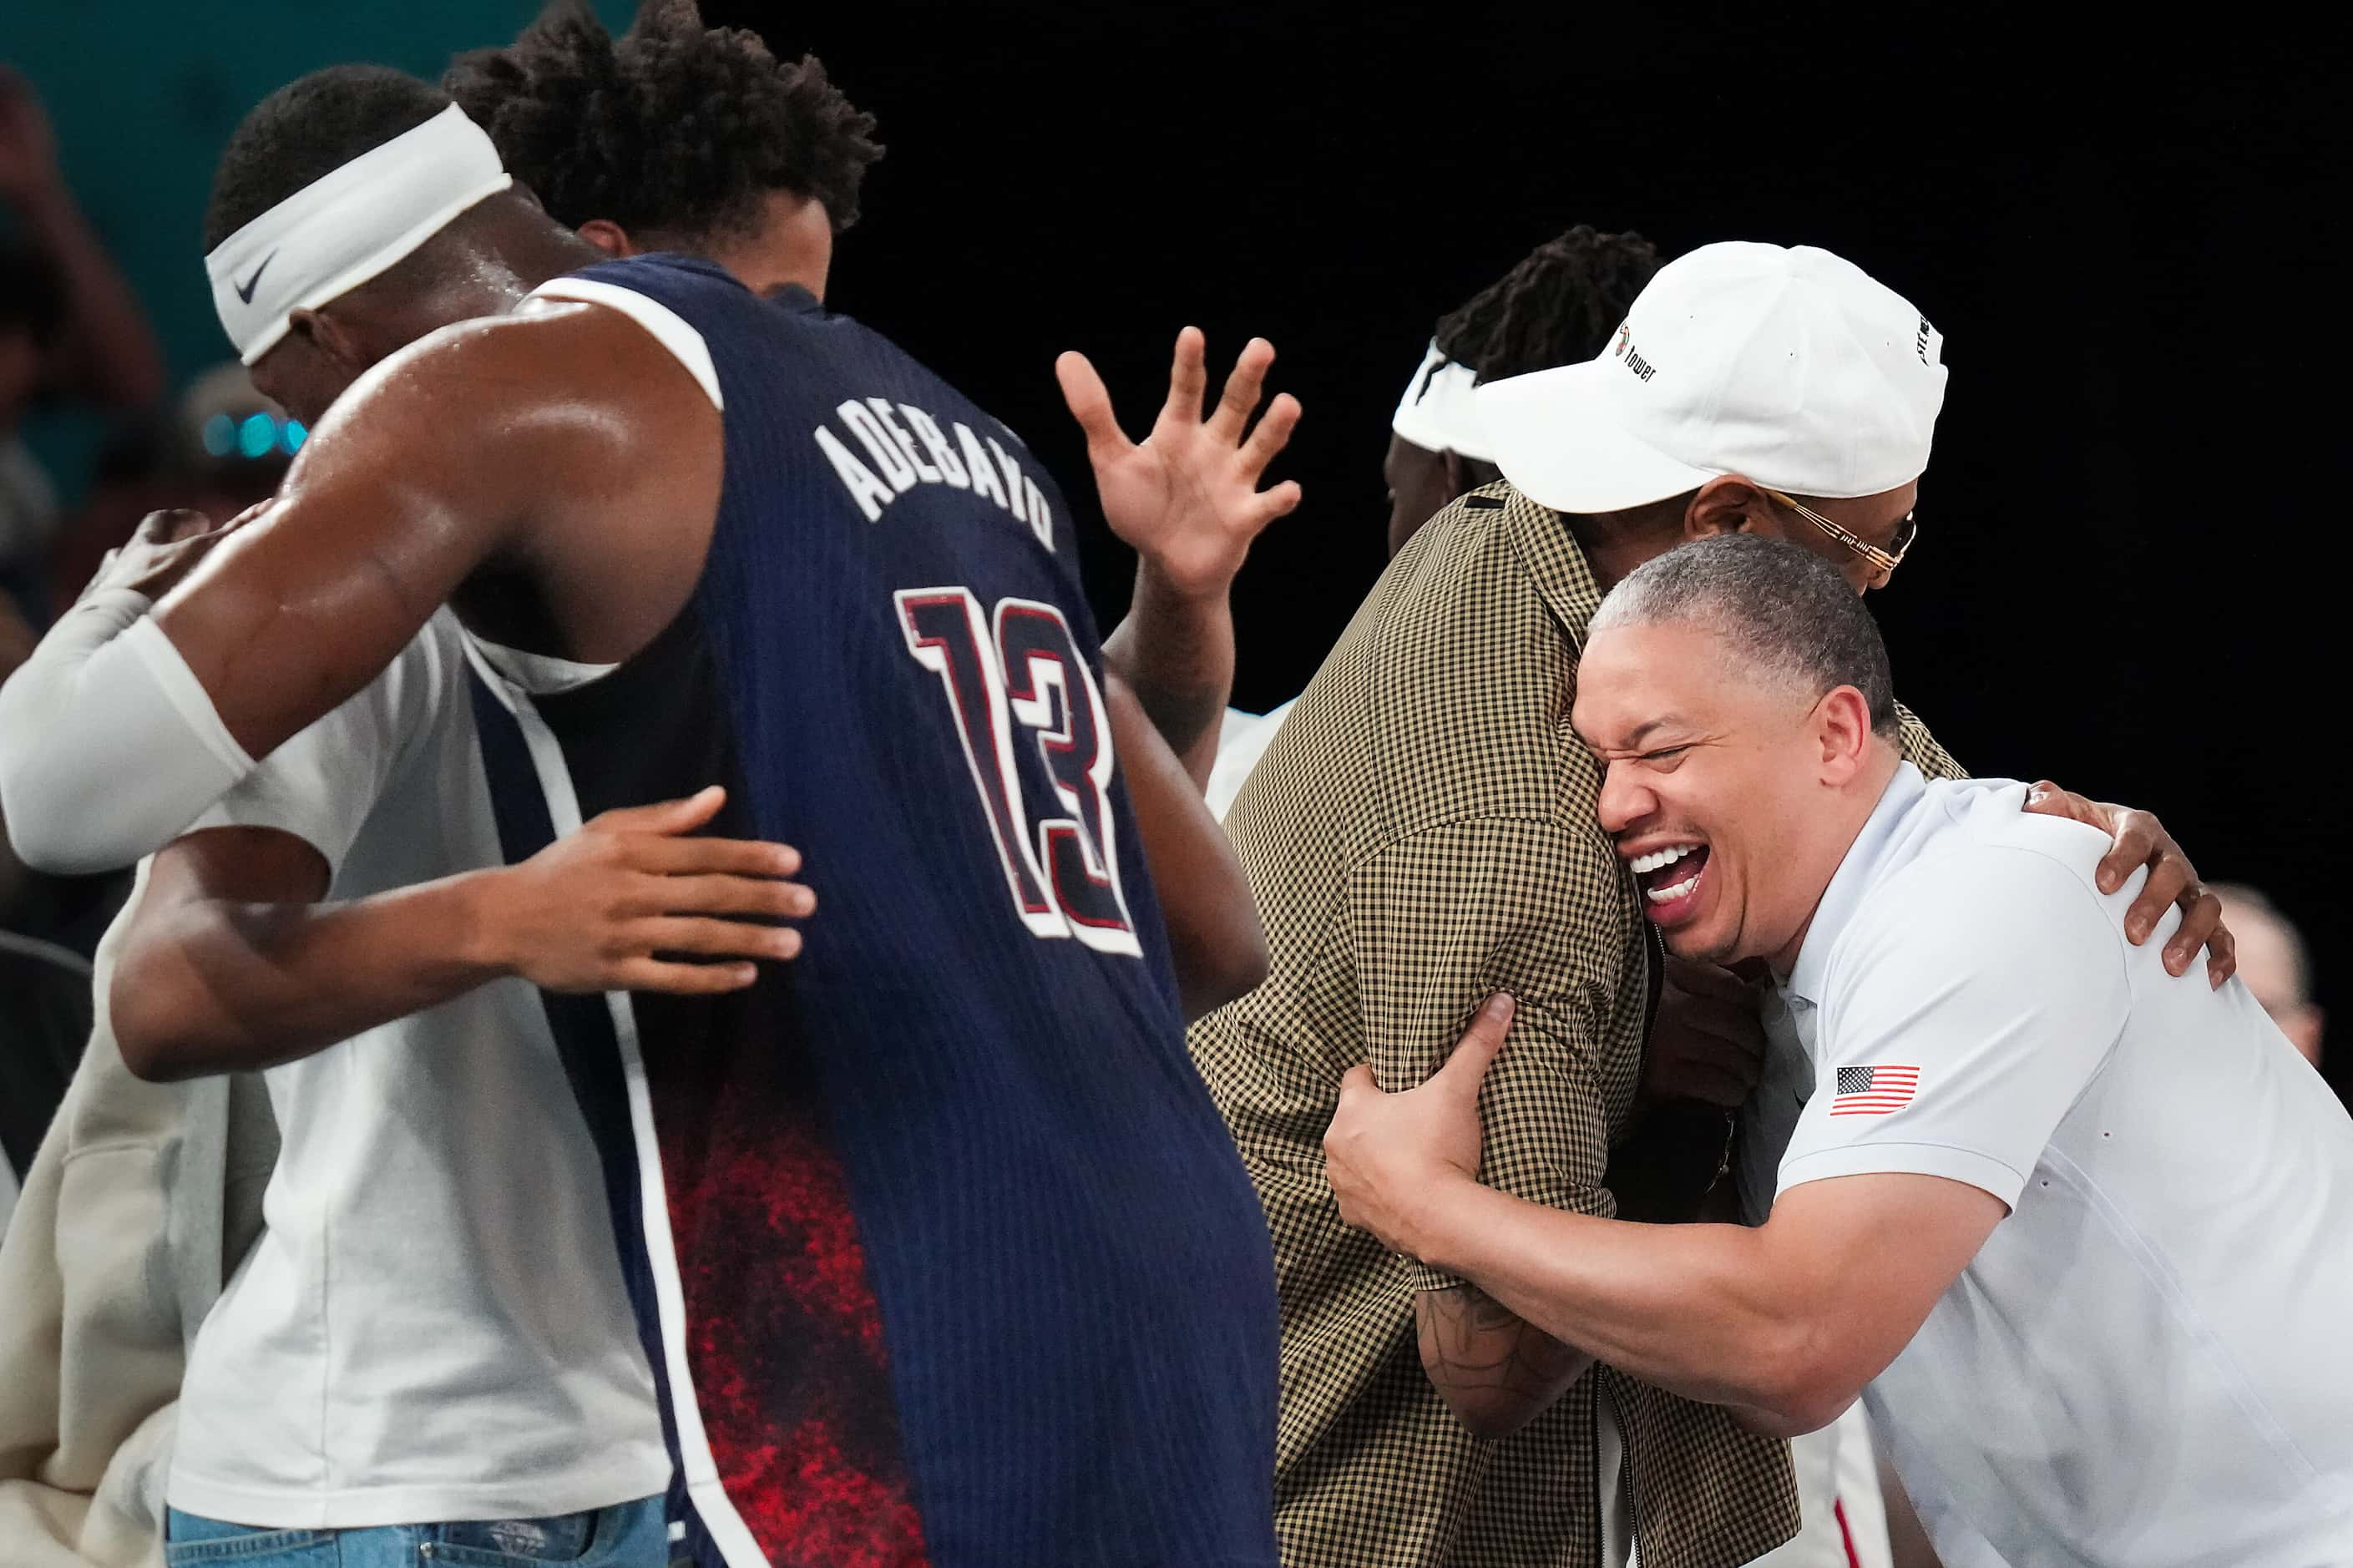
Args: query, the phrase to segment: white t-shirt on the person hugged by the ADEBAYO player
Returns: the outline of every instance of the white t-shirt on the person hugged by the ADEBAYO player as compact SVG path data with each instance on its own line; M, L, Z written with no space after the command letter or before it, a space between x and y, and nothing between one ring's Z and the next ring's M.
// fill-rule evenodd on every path
M198 826L308 841L336 899L501 864L461 636L438 612ZM285 1137L268 1229L188 1356L172 1507L362 1528L664 1490L605 1182L532 986L266 1081Z

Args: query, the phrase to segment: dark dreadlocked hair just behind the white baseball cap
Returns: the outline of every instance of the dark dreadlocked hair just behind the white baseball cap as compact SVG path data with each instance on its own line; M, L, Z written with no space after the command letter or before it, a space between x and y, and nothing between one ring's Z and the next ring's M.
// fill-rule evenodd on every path
M1642 235L1579 224L1445 315L1438 353L1480 381L1591 360L1657 271L1659 252Z

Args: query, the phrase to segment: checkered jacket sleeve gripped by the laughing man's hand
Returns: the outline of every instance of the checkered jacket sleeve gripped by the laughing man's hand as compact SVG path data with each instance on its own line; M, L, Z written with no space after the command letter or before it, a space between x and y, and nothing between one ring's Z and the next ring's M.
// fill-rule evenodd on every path
M1447 1059L1494 991L1518 1003L1480 1092L1480 1180L1546 1208L1614 1215L1602 1187L1609 1107L1598 1043L1642 996L1642 956L1609 930L1617 866L1593 833L1546 819L1471 819L1424 829L1358 866L1348 925L1365 1055L1384 1088L1412 1088ZM1593 918L1574 918L1579 899ZM1628 963L1633 972L1628 975ZM1635 1001L1640 1005L1640 1001ZM1624 1085L1612 1085L1624 1092ZM1409 1264L1412 1290L1459 1278Z

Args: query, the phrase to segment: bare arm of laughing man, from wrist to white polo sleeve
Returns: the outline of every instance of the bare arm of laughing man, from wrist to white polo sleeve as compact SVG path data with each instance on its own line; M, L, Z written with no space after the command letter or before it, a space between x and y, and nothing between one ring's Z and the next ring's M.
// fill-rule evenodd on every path
M1929 1175L1807 1182L1758 1229L1595 1220L1442 1182L1402 1241L1558 1340L1791 1436L1854 1403L2005 1212Z

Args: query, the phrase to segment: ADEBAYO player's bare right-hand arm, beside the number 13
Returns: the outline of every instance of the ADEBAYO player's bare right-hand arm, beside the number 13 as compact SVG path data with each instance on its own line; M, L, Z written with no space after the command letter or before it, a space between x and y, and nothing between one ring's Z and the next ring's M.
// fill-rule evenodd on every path
M1266 979L1266 928L1259 925L1242 862L1233 857L1200 789L1153 732L1136 695L1108 671L1104 704L1111 709L1111 746L1136 808L1136 831L1144 833L1144 859L1160 892L1186 1022L1193 1022Z

